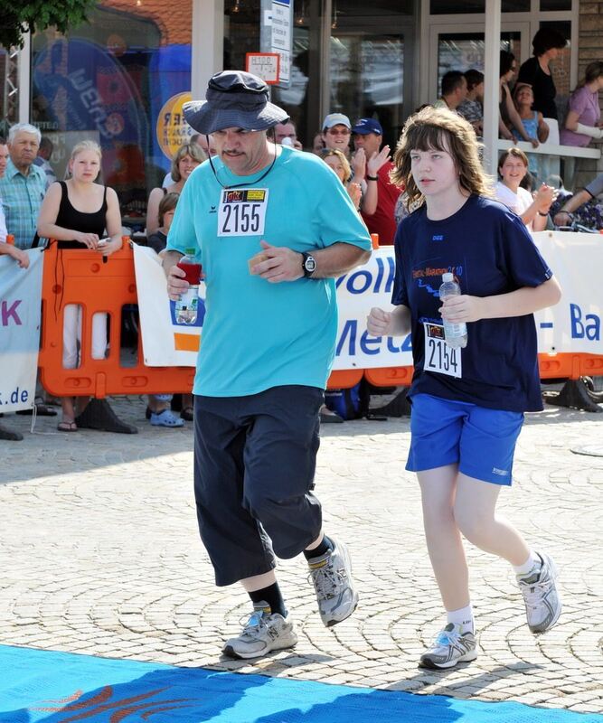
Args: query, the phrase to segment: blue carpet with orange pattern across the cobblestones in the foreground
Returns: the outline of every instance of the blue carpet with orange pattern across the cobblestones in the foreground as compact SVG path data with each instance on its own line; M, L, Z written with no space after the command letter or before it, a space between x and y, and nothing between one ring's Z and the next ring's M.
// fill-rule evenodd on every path
M0 645L0 723L603 723L603 716Z

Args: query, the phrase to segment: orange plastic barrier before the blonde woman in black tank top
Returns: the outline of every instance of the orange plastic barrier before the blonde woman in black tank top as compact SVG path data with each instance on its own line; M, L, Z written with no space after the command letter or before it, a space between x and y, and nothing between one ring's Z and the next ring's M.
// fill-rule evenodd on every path
M81 362L77 369L63 369L63 309L81 306ZM193 367L146 367L138 336L137 358L127 365L120 360L121 320L124 306L137 304L134 255L129 243L105 261L97 251L57 249L44 251L42 280L41 380L57 397L108 394L160 394L190 392ZM92 359L91 320L108 314L109 341L106 359Z

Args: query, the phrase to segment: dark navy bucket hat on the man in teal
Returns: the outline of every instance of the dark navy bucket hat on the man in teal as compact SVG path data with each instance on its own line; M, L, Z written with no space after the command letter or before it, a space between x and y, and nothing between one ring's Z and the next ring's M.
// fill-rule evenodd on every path
M242 70L222 70L212 75L205 100L184 103L189 126L203 135L223 128L266 130L289 119L287 113L269 101L268 85Z

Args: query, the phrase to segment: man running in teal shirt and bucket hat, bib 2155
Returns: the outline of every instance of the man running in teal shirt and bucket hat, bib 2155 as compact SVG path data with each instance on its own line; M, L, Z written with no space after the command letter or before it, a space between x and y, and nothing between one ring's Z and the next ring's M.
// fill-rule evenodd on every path
M288 117L262 80L218 73L184 116L217 151L184 186L164 261L172 299L188 287L175 266L185 249L197 250L205 275L193 387L197 519L216 584L240 581L253 604L223 652L257 658L297 643L276 557L304 553L327 626L358 602L347 549L324 534L312 490L337 330L334 277L369 258L371 244L326 165L269 139Z

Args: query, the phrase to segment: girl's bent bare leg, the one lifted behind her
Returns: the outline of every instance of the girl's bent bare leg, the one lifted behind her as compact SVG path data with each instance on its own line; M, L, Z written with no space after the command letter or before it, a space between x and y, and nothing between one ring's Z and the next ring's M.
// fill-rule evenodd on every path
M530 548L513 525L496 514L500 489L499 484L458 473L454 516L469 542L519 567L530 558Z

